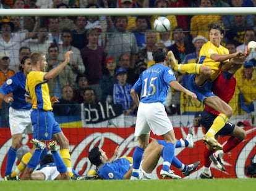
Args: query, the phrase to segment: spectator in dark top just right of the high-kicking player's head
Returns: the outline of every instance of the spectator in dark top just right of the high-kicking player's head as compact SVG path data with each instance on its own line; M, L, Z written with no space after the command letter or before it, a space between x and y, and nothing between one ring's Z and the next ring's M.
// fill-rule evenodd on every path
M234 22L234 26L226 31L225 36L228 41L233 41L236 46L239 46L244 43L245 31L252 30L252 28L246 25L245 15L234 15Z

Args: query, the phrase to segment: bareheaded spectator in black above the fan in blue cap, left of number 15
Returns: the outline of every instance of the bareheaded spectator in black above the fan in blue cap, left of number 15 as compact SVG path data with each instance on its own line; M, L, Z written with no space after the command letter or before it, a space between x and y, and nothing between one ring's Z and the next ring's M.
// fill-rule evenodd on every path
M130 67L130 55L127 53L121 54L118 63L119 67L125 68L127 71L127 83L133 85L139 76L135 74L134 68Z

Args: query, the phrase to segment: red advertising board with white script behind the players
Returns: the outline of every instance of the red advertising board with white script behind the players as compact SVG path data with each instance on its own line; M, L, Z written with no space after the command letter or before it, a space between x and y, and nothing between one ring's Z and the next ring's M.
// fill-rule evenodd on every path
M74 169L79 174L86 174L90 169L95 169L88 160L88 151L93 147L98 146L103 148L110 157L117 145L119 145L119 156L132 156L134 148L137 146L137 138L134 137L134 128L67 128L63 129L64 134L70 142L70 156ZM177 139L185 139L188 128L174 128ZM224 165L226 172L221 172L211 166L211 173L215 178L218 177L249 177L245 173L245 166L250 165L250 158L255 157L255 142L256 142L256 128L245 128L247 137L236 148L224 155ZM203 167L203 149L205 144L202 142L203 128L195 128L194 131L194 148L176 148L176 156L185 164L194 163L200 161L200 168L198 171L190 174L189 179L198 178L202 172ZM159 139L160 137L151 135L151 137ZM32 146L29 142L31 136L24 136L22 144ZM221 143L225 143L229 137L222 137ZM6 169L6 158L9 147L12 140L9 129L0 129L0 166L1 176L4 177L4 171ZM256 161L256 160L255 160ZM153 171L153 178L160 178L157 176L163 163L162 158L158 162L157 168ZM171 166L171 169L176 171L176 174L182 176L179 169Z

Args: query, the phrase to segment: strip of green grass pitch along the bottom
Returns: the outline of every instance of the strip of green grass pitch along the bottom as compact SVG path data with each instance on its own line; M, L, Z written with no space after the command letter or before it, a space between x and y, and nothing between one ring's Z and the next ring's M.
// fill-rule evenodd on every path
M135 190L255 190L256 179L196 179L151 181L0 181L2 191L135 191Z

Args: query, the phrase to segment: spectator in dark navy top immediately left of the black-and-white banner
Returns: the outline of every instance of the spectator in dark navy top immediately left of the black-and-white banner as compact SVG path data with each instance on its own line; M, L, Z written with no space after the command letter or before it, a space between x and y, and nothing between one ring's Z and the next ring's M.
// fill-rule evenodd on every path
M80 105L73 100L73 88L69 85L61 88L61 99L53 105L53 113L56 116L80 115Z

